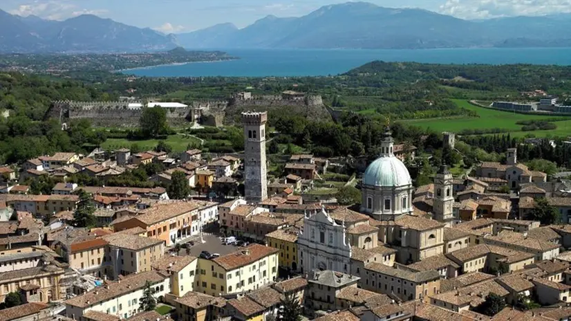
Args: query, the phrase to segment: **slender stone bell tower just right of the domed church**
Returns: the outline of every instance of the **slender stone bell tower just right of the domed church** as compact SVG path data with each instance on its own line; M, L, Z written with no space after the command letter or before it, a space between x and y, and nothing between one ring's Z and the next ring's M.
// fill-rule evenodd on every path
M434 178L433 218L436 221L451 223L454 219L453 177L448 167L442 165Z

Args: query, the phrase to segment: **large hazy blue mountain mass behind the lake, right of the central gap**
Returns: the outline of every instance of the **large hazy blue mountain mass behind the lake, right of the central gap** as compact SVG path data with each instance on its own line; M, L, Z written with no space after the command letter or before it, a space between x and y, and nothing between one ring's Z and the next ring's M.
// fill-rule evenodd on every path
M214 28L214 27L213 27ZM420 9L350 2L299 18L268 16L243 29L177 35L185 48L455 48L566 46L571 15L469 21Z

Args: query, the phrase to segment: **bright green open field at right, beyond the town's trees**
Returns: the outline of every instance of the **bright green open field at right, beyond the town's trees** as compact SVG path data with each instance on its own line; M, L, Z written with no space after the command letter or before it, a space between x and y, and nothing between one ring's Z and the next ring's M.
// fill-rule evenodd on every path
M571 120L561 116L541 116L541 115L525 115L522 113L513 113L509 111L499 111L477 107L470 104L467 100L453 100L458 107L476 111L478 118L460 117L460 118L439 118L424 120L406 121L409 125L430 128L437 131L459 132L463 129L507 129L514 137L523 137L526 135L534 135L537 137L545 136L568 136L571 134ZM521 131L522 125L517 125L520 120L556 120L557 129L550 131Z

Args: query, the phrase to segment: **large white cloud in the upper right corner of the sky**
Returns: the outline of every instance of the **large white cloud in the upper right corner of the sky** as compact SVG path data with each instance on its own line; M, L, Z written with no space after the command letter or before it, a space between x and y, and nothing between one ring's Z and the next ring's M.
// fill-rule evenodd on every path
M571 12L571 0L447 0L439 11L463 19L539 16Z

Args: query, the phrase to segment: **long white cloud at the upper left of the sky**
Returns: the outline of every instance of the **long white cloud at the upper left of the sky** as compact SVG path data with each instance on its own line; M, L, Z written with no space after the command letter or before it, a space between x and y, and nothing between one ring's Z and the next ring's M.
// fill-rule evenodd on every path
M63 20L79 15L102 15L106 12L108 12L108 10L78 8L75 3L66 0L35 0L30 3L22 4L14 10L10 10L12 15L20 15L22 17L35 15L50 20Z

